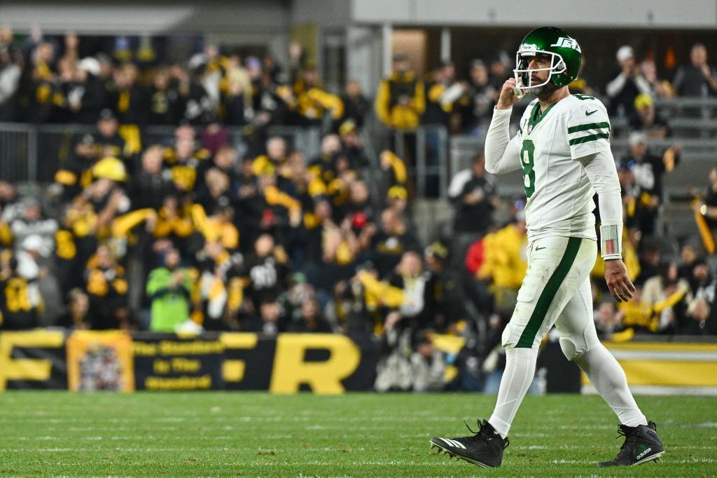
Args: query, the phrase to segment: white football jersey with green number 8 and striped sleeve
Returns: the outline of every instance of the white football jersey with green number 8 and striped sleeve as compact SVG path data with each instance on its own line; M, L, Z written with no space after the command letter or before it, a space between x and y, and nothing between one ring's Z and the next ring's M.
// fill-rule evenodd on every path
M610 148L610 123L596 98L570 95L541 113L533 100L511 141L521 151L528 238L597 239L595 192L578 159Z

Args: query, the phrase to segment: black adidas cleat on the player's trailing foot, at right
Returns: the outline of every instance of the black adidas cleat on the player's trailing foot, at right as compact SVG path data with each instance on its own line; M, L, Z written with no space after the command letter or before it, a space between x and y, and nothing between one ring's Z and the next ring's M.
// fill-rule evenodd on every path
M665 453L665 445L657 434L657 426L648 421L647 425L617 427L619 436L625 436L625 443L617 456L610 461L601 461L598 467L629 467L660 459Z

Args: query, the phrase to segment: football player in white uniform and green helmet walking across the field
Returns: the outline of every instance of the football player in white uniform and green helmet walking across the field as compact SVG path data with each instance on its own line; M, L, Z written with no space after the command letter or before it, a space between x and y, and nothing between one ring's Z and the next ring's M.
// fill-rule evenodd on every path
M503 333L506 365L493 416L479 421L473 436L431 439L439 451L481 467L499 467L503 461L508 430L535 374L538 345L553 325L564 355L588 375L617 414L619 433L625 436L617 456L599 466L640 464L665 451L655 423L637 407L625 372L595 332L589 280L597 256L595 192L607 286L617 301L629 301L635 286L620 250L622 202L607 111L596 98L571 95L567 87L580 66L580 46L563 30L543 27L528 33L516 54L515 78L503 84L485 141L488 172L523 174L528 271ZM524 93L537 98L511 139L512 108Z

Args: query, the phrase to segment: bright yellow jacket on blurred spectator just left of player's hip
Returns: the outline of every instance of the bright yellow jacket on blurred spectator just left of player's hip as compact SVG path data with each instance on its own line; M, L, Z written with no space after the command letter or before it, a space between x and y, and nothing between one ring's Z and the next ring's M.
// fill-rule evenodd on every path
M528 236L518 233L515 225L485 235L483 245L485 259L476 275L481 279L493 279L493 286L520 288L528 270L526 244Z

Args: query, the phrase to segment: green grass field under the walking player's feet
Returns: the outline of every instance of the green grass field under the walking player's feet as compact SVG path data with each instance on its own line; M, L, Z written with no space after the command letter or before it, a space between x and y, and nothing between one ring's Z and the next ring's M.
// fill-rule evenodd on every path
M621 440L599 397L528 397L503 467L437 456L431 436L487 418L482 395L9 392L0 394L2 476L493 477L717 475L717 400L642 397L667 453L598 469Z

